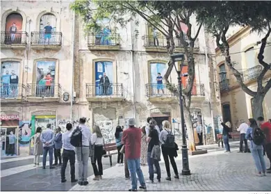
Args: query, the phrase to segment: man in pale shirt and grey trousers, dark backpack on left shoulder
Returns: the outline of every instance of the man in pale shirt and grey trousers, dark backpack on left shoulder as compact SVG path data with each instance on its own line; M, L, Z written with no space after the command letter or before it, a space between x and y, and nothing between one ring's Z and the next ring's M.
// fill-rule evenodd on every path
M88 184L88 157L90 156L91 131L85 125L85 118L80 118L79 127L70 134L70 143L75 147L76 159L79 163L79 185Z

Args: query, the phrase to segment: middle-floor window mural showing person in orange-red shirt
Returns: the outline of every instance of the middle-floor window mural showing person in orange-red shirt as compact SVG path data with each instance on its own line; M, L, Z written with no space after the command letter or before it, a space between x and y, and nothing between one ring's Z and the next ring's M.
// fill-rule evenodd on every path
M54 97L55 70L55 61L40 60L37 62L36 95Z

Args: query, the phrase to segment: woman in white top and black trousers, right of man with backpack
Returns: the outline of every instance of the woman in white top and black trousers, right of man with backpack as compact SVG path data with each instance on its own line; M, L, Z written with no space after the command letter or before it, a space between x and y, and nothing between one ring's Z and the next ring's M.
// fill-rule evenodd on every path
M103 175L103 164L101 163L101 157L103 156L104 138L103 135L101 134L101 129L97 125L93 127L91 145L95 146L94 162L92 163L92 168L95 175L95 178L93 180L99 181L99 179L101 179L101 175ZM98 163L98 168L96 165L96 161Z

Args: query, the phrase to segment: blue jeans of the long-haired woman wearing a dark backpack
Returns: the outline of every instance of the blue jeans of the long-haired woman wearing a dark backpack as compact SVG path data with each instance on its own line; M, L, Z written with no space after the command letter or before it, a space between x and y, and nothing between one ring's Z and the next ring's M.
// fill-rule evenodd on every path
M263 156L263 145L256 145L252 142L251 152L252 152L254 163L256 165L258 172L265 172L266 165L265 165L265 159Z

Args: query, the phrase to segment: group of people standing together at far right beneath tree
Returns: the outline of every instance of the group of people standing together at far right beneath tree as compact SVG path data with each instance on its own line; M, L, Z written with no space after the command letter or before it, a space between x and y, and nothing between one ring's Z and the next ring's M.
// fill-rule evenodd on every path
M221 123L223 126L222 138L225 145L225 152L231 152L229 138L231 134L231 123ZM237 129L240 131L240 147L239 153L252 153L254 163L257 169L257 176L265 176L266 172L271 172L271 120L265 122L263 117L258 117L257 120L249 118L247 123L240 120L240 125ZM245 143L245 151L243 144ZM266 168L264 156L267 156L270 161L270 168Z

